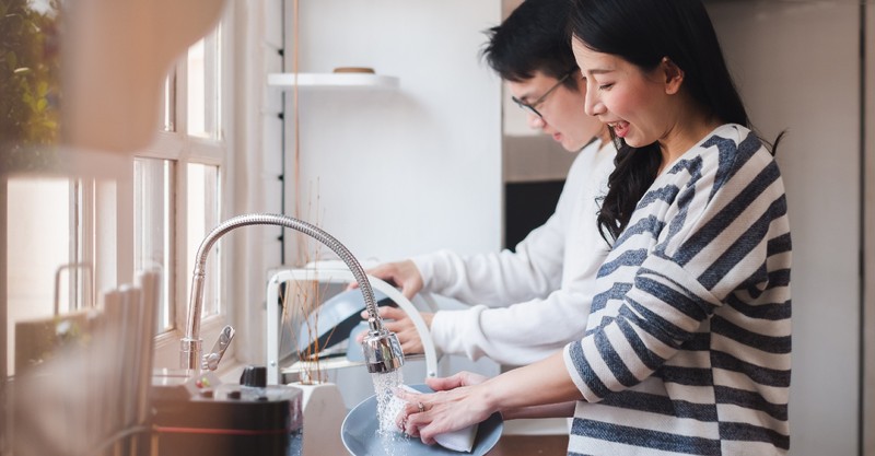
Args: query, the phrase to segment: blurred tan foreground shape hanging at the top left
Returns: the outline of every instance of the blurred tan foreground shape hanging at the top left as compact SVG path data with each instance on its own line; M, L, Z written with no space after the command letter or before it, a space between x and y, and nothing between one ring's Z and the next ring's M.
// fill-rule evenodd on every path
M82 0L65 11L61 141L125 152L148 145L171 63L219 21L224 0Z

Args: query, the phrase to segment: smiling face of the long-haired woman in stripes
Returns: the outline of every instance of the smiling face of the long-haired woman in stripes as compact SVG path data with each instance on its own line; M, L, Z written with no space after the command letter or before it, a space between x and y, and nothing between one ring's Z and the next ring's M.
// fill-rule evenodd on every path
M607 124L633 148L669 135L674 116L658 68L645 73L618 56L587 48L576 38L572 49L586 80L586 114Z

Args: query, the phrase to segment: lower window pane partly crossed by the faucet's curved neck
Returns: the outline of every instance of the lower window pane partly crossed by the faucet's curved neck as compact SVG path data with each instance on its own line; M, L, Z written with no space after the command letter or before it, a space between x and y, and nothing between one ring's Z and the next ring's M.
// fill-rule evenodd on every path
M187 196L187 226L188 226L188 268L195 270L195 260L198 247L203 237L219 224L219 166L199 163L188 164L188 196ZM221 296L221 258L222 242L215 243L207 256L206 280L203 283L202 316L215 315L223 309L220 307ZM190 295L190 279L187 280Z

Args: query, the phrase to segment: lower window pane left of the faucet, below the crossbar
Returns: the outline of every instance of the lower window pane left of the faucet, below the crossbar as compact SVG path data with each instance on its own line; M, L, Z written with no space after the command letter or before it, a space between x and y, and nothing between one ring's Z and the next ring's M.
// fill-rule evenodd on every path
M159 334L173 329L174 165L170 160L133 160L133 267L161 271Z

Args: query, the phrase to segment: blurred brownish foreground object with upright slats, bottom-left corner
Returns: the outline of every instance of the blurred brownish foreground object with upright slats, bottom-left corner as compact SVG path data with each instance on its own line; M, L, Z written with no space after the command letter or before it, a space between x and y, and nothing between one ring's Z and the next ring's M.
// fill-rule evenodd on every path
M96 311L16 325L16 339L33 343L16 347L14 455L145 454L160 281L143 272Z

